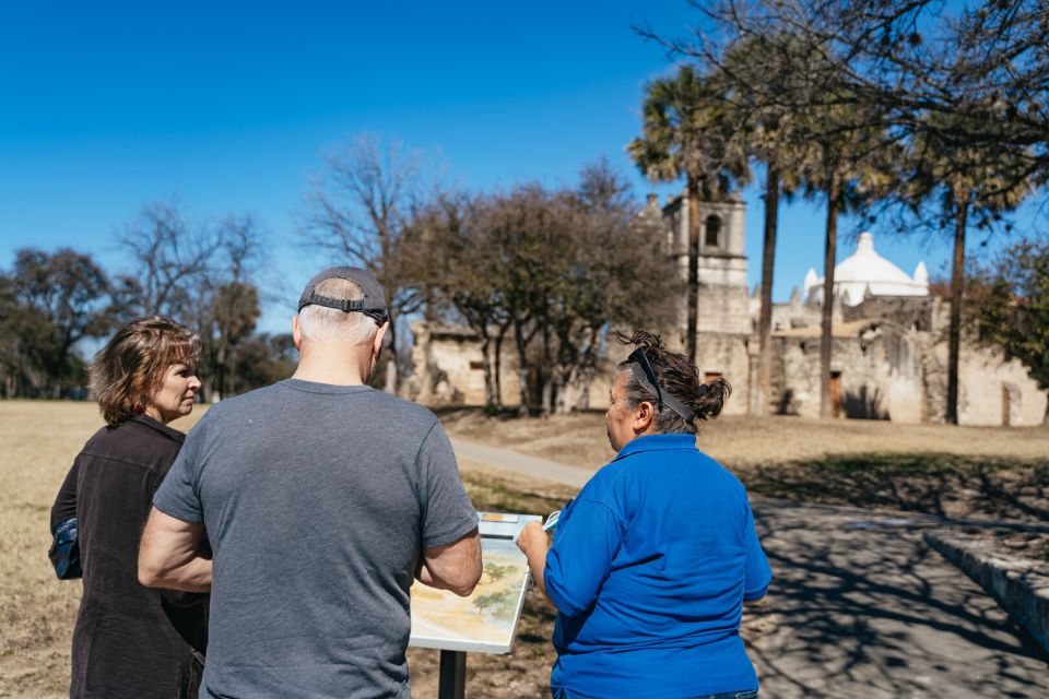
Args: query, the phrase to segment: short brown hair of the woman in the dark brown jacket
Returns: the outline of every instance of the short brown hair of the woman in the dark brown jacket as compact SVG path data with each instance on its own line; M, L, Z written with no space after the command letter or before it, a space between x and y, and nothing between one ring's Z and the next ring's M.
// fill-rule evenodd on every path
M91 391L102 416L117 425L141 413L167 368L173 364L192 366L200 352L200 337L170 318L132 320L91 363Z

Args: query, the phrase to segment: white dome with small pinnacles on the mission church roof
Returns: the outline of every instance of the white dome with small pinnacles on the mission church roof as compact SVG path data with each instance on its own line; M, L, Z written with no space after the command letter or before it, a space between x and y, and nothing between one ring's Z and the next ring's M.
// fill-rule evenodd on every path
M810 299L823 299L823 277L815 277L810 270L805 275L805 292ZM856 252L834 268L834 293L848 306L858 306L863 297L871 296L928 296L929 274L926 265L918 263L915 276L874 252L874 236L861 233Z

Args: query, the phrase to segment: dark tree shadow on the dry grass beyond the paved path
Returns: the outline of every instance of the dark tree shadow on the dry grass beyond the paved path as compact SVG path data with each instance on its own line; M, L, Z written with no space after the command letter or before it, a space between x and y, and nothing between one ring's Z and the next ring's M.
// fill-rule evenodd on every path
M1049 520L1049 460L943 453L829 455L735 469L751 493L939 516Z

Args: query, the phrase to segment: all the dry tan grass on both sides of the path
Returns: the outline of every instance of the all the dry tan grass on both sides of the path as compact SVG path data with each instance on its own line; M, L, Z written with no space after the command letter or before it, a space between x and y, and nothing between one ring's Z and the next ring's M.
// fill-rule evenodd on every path
M199 418L176 423L189 429ZM611 458L600 415L502 420L446 412L452 434L565 463L597 467ZM61 697L80 585L55 579L47 561L48 514L72 458L102 425L93 404L0 401L0 697ZM795 418L721 418L700 448L758 493L941 511L1049 520L1049 428L985 429ZM461 464L479 509L542 513L570 493ZM750 615L744 632L762 624ZM544 696L553 615L527 601L509 656L471 655L472 696ZM436 695L437 652L410 650L413 694Z

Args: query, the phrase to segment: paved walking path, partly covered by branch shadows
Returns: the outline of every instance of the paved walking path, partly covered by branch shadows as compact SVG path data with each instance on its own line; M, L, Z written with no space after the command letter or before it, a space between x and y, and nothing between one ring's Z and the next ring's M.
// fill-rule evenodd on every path
M453 439L488 466L579 487L591 470ZM944 520L752 499L776 580L749 648L770 697L1045 697L1049 657L922 541Z

